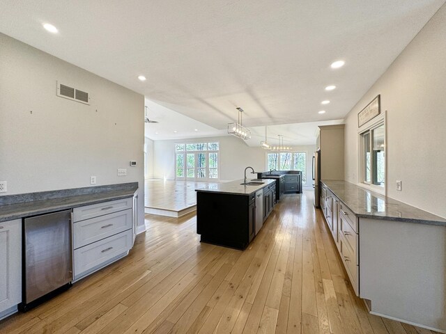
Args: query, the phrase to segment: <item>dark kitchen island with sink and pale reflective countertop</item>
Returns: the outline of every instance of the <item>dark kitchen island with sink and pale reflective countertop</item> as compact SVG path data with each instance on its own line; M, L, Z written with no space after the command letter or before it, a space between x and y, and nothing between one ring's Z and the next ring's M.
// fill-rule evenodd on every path
M243 250L254 239L256 221L261 226L275 204L275 180L253 181L256 184L237 180L195 189L197 233L202 242ZM256 206L256 194L258 203L262 197L262 210Z

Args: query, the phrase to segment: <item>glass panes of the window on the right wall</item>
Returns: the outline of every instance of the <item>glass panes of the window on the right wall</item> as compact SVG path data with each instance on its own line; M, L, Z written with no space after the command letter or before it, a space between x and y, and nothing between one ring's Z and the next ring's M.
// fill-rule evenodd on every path
M360 133L361 182L374 186L385 185L385 126L380 122Z

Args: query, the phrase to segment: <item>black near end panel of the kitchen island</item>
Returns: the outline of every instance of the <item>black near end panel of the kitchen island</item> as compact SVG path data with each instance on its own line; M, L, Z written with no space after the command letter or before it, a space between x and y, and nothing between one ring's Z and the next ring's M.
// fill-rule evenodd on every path
M255 235L255 193L197 191L197 233L201 241L245 249Z

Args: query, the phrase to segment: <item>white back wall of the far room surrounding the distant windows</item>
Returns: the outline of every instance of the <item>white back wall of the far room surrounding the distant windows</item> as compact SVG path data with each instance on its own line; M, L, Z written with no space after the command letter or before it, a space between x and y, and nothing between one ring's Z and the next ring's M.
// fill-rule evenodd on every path
M252 166L256 172L266 171L266 151L252 148L234 136L220 136L210 138L187 138L172 141L154 141L154 174L157 179L175 179L175 143L201 143L218 141L220 143L220 181L243 179L247 166ZM293 147L299 152L307 152L307 185L312 185L312 156L315 145ZM248 174L254 178L254 175Z

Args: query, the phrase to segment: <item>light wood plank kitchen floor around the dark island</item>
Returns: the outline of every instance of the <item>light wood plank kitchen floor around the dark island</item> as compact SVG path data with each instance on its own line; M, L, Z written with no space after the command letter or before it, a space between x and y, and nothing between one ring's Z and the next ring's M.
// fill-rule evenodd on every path
M128 257L0 332L433 333L366 312L312 200L284 196L243 252L200 244L194 214L147 215Z

